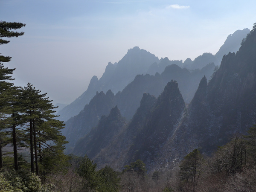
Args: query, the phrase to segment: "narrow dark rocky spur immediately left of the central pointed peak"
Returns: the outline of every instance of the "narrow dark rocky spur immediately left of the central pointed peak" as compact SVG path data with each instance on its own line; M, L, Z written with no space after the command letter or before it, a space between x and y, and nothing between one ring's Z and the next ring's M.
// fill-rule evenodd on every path
M122 167L128 164L131 158L128 155L129 148L133 145L134 138L142 131L151 108L157 99L148 93L143 94L140 107L137 109L130 123L122 129L111 144L102 149L93 160L100 167L111 165L113 169L122 171Z

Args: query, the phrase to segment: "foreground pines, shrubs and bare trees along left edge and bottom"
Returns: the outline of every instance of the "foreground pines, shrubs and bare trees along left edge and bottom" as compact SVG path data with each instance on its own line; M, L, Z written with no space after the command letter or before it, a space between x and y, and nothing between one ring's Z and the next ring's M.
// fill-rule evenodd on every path
M23 26L0 21L0 45L9 43L3 37L23 35L12 31ZM140 159L122 173L110 166L97 169L87 155L63 153L64 122L56 119L46 93L30 83L14 86L15 69L4 66L10 60L0 55L0 192L256 191L256 125L211 157L194 149L172 170L147 173Z

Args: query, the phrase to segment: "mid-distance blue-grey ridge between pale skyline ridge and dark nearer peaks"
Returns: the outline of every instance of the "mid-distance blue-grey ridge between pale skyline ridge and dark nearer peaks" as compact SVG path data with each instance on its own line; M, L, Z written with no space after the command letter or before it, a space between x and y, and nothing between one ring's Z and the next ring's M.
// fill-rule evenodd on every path
M167 61L168 58L165 60ZM117 105L121 115L129 121L137 108L140 107L143 93L159 96L166 84L172 81L172 79L177 79L177 82L180 83L181 93L186 96L186 102L189 102L195 93L201 77L205 74L207 77L210 77L214 67L215 65L212 63L201 70L189 71L178 67L176 64L172 64L168 65L162 74L156 73L155 76L148 74L137 75L134 81L128 84L122 91L116 93L115 96L111 90L108 90L106 95L103 91L97 93L78 115L67 120L63 131L67 140L70 141L67 144L67 152L72 152L72 148L77 145L77 140L89 133L91 128L97 125L99 118L102 115L108 115L111 108Z

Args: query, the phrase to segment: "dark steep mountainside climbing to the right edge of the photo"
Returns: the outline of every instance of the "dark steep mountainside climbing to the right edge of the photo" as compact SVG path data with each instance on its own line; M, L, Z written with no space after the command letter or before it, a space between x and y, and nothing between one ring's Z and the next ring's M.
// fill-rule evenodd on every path
M234 134L246 134L256 122L256 31L239 52L224 55L207 84L204 77L192 102L162 150L160 162L170 167L199 148L209 154Z

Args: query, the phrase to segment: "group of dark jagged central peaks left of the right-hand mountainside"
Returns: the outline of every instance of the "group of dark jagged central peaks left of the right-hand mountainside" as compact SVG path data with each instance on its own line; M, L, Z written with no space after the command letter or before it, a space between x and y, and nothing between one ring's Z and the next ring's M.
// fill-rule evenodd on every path
M125 164L138 158L144 162L152 163L157 151L173 131L184 108L185 102L177 87L177 82L171 81L157 99L148 93L143 94L140 107L126 127L121 121L121 125L118 126L119 129L113 128L115 125L105 121L105 119L110 118L102 117L98 126L83 140L80 140L80 144L76 146L74 152L75 154L93 154L90 157L100 167L108 164L119 170ZM113 121L114 124L115 122L116 120ZM110 124L111 126L109 126ZM109 130L108 127L112 127L116 131L110 131L112 140L108 140L109 144L104 145L99 151L95 149L95 146L105 140L105 137L99 139L99 130L105 133L103 130ZM105 134L109 138L109 133ZM100 133L100 135L105 134Z

